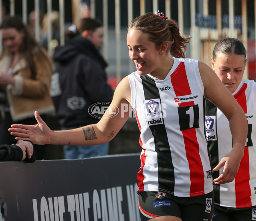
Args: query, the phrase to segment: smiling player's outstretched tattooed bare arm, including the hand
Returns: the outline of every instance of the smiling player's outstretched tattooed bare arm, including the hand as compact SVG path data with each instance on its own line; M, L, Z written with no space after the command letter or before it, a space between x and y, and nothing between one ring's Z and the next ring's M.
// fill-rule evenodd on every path
M67 131L52 131L36 111L37 125L14 124L9 131L16 136L16 140L30 140L36 144L95 145L105 143L116 136L128 119L129 113L123 113L122 106L129 105L130 100L131 89L128 77L126 77L116 87L110 107L97 124ZM113 116L114 107L117 107L119 111L118 113L116 111Z

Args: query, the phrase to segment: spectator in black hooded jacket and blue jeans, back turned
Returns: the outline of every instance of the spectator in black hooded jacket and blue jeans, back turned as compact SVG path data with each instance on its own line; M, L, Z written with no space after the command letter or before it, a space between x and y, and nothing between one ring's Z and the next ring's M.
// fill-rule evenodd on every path
M74 26L73 26L74 27ZM107 83L107 64L99 53L104 29L96 19L82 18L75 35L55 48L52 98L62 130L97 123L110 104L113 90ZM97 147L96 147L97 146ZM109 144L64 146L66 159L108 154Z

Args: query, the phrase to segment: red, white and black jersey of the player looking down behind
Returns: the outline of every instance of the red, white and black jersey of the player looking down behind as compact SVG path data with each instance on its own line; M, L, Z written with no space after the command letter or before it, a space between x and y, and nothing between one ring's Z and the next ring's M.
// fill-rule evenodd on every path
M249 207L256 205L256 82L242 79L233 93L247 117L248 136L239 171L231 183L214 185L215 203L228 207ZM207 100L206 137L212 155L212 167L232 149L229 122L224 114ZM222 169L213 172L213 178Z

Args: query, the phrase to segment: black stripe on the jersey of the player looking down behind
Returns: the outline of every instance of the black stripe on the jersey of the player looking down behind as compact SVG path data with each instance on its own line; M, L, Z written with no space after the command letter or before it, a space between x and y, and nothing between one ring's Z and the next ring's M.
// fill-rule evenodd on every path
M205 115L206 116L216 116L215 120L215 126L216 126L216 131L218 130L217 128L217 107L212 104L208 99L206 100L206 105L205 105ZM218 158L218 134L216 132L216 139L217 140L208 140L207 144L211 153L211 164L212 164L212 178L215 179L220 175L219 170L214 171L213 168L219 163L219 158ZM220 185L214 185L214 201L217 204L220 204Z

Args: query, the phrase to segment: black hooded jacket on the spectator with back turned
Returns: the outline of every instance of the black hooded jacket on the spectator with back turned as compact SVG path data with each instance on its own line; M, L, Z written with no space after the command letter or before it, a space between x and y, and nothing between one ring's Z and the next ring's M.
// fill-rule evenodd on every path
M97 102L111 102L106 62L86 38L77 36L55 48L52 99L61 127L79 127L99 121L88 113Z

